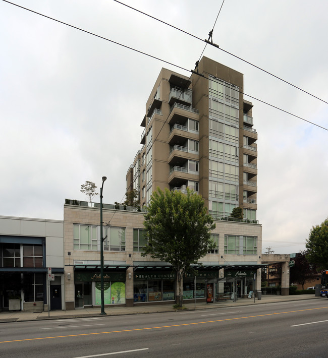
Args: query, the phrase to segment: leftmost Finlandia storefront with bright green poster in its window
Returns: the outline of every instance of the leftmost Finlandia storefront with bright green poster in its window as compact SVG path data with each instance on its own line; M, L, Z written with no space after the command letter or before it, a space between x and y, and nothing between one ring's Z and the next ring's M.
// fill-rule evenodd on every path
M104 271L104 305L125 304L126 271ZM75 308L100 306L100 272L76 269Z

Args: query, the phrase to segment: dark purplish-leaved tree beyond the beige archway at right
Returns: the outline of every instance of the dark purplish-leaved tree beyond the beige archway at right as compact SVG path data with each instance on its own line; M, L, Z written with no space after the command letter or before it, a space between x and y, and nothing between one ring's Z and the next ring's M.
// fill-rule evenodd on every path
M302 289L304 289L304 284L306 282L313 281L318 276L315 265L308 262L306 255L307 251L300 251L296 254L296 257L293 259L295 261L295 266L291 267L289 270L290 282L302 285Z

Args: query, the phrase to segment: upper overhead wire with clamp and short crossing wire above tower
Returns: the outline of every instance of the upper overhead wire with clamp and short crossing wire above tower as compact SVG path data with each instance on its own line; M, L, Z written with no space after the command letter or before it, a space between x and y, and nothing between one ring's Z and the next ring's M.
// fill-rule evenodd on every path
M162 21L162 20L160 20L160 19L154 17L154 16L151 16L151 15L149 15L149 14L147 14L147 13L144 13L144 12L142 12L142 11L136 9L136 8L133 8L132 6L129 6L129 5L127 5L127 4L124 4L124 3L122 3L122 2L120 2L120 1L118 1L118 0L114 0L114 1L115 1L116 3L119 3L119 4L123 5L123 6L126 6L127 8L130 8L130 9L132 9L132 10L134 10L134 11L137 11L137 12L139 12L139 13L145 15L145 16L148 16L148 17L150 17L150 18L152 18L152 19L154 19L154 20L156 20L156 21L159 21L159 22L161 22L161 23L163 23L163 24L165 24L165 25L168 25L168 26L170 26L170 27L172 27L172 28L174 28L174 29L176 29L176 30L178 30L178 31L181 31L181 32L183 32L183 33L185 33L185 34L187 34L187 35L189 35L189 36L192 36L192 37L196 38L197 40L206 42L206 44L210 44L210 45L212 45L212 46L214 46L214 47L220 49L221 51L226 52L227 54L229 54L229 55L231 55L231 56L234 56L234 57L240 59L240 61L243 61L243 62L245 62L246 64L255 67L256 69L258 69L258 70L260 70L260 71L262 71L262 72L264 72L264 73L266 73L266 74L268 74L268 75L270 75L270 76L272 76L272 77L275 77L275 78L277 78L277 79L280 80L280 81L285 82L286 84L288 84L288 85L290 85L290 86L292 86L292 87L298 89L299 91L302 91L302 92L308 94L309 96L312 96L312 97L318 99L319 101L328 104L328 102L325 101L324 99L319 98L319 97L315 96L314 94L312 94L312 93L310 93L310 92L308 92L308 91L306 91L306 90L303 90L302 88L300 88L300 87L298 87L298 86L292 84L291 82L288 82L288 81L284 80L283 78L281 78L281 77L279 77L279 76L277 76L277 75L274 75L274 74L272 74L271 72L266 71L266 70L260 68L259 66L256 66L256 65L252 64L251 62L247 61L246 59L244 59L244 58L242 58L242 57L239 57L239 56L237 56L237 55L235 55L235 54L233 54L233 53L231 53L231 52L229 52L229 51L227 51L227 50L225 50L225 49L219 47L217 44L213 43L212 41L209 42L209 39L208 39L208 40L204 40L204 39L202 39L202 38L200 38L200 37L198 37L198 36L196 36L196 35L191 34L190 32L187 32L187 31L185 31L185 30L180 29L179 27L176 27L176 26L174 26L174 25L171 25L171 24L169 24L169 23L167 23L167 22L165 22L165 21ZM224 2L223 2L223 3L224 3ZM222 6L223 6L223 3L222 3ZM221 6L221 8L222 8L222 6ZM221 11L221 9L220 9L220 11ZM220 14L220 12L219 12L219 14ZM215 21L215 23L216 23L216 21ZM215 25L215 24L214 24L214 25ZM210 33L209 33L209 34L210 34L210 37L212 36L212 31L213 31L213 30L211 30ZM206 47L206 45L205 45L205 47ZM205 48L204 48L204 49L205 49ZM204 51L203 51L203 52L204 52Z

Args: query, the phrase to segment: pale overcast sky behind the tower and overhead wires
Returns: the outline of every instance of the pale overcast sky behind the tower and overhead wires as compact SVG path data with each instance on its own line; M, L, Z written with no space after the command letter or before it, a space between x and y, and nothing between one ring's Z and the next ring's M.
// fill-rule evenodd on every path
M204 42L113 0L16 0L16 4L194 69ZM205 39L221 0L126 0ZM328 2L226 0L213 31L222 49L328 101ZM190 73L0 1L0 215L63 219L65 198L123 201L125 175L141 149L145 103L162 67ZM204 55L244 74L244 91L328 128L328 104L221 49ZM253 102L258 133L262 252L305 249L327 216L328 132ZM99 197L94 201L99 201Z

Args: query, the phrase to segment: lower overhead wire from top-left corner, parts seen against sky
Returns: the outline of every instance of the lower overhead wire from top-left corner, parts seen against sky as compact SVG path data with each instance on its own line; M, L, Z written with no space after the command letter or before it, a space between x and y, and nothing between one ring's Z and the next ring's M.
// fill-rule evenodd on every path
M116 1L116 0L115 0L115 1ZM146 52L137 50L137 49L135 49L135 48L133 48L133 47L124 45L124 44L122 44L122 43L120 43L120 42L117 42L117 41L108 39L108 38L106 38L106 37L97 35L97 34L95 34L95 33L93 33L93 32L90 32L90 31L81 29L81 28L79 28L79 27L77 27L77 26L74 26L74 25L71 25L71 24L68 24L68 23L66 23L66 22L64 22L64 21L60 21L60 20L58 20L58 19L54 19L54 18L52 18L52 17L50 17L50 16L47 16L47 15L38 13L38 12L36 12L36 11L34 11L34 10L31 10L31 9L25 8L25 7L23 7L23 6L20 6L20 5L11 3L11 2L9 2L8 0L3 0L3 2L8 3L8 4L11 4L11 5L14 5L14 6L18 7L18 8L21 8L21 9L23 9L23 10L29 11L29 12L34 13L34 14L36 14L36 15L45 17L45 18L47 18L47 19L49 19L49 20L56 21L56 22L58 22L58 23L60 23L60 24L69 26L69 27L71 27L71 28L74 28L74 29L76 29L76 30L82 31L82 32L87 33L87 34L89 34L89 35L92 35L92 36L101 38L101 39L103 39L103 40L105 40L105 41L108 41L108 42L111 42L111 43L115 43L116 45L125 47L125 48L127 48L127 49L132 50L132 51L135 51L135 52L144 54L144 55L146 55L146 56L148 56L148 57L157 59L157 60L160 61L160 62L163 62L163 63L169 64L169 65L172 65L172 66L177 67L177 68L179 68L179 69L181 69L181 70L184 70L184 71L187 71L187 72L191 72L191 73L194 73L194 74L199 75L199 76L203 76L203 75L201 75L201 74L196 73L196 72L193 71L193 70L188 70L188 69L186 69L186 68L184 68L184 67L182 67L182 66L175 65L175 64L173 64L173 63L171 63L171 62L169 62L169 61L165 61L164 59L161 59L161 58L156 57L156 56L153 56L153 55L151 55L151 54L149 54L149 53L146 53ZM278 107L278 106L275 106L275 105L273 105L273 104L270 104L270 103L268 103L268 102L262 101L261 99L258 99L258 98L256 98L256 97L253 97L253 96L251 96L251 95L249 95L249 94L247 94L247 93L244 93L244 92L241 92L241 91L238 91L238 92L239 92L239 93L242 93L242 94L245 95L245 96L248 96L248 97L250 97L250 98L253 98L253 99L255 99L255 100L259 101L259 102L262 102L262 103L264 103L264 104L266 104L266 105L268 105L268 106L271 106L271 107L273 107L273 108L276 108L276 109L278 109L278 110L280 110L280 111L282 111L282 112L285 112L285 113L287 113L287 114L290 114L290 115L292 115L292 116L294 116L294 117L296 117L296 118L298 118L298 119L300 119L300 120L302 120L302 121L304 121L304 122L307 122L307 123L309 123L309 124L311 124L311 125L313 125L313 126L316 126L316 127L319 127L319 128L321 128L321 129L323 129L323 130L325 130L325 131L328 131L327 128L321 127L321 126L317 125L316 123L313 123L313 122L310 122L310 121L308 121L308 120L305 120L304 118L302 118L302 117L300 117L300 116L298 116L298 115L296 115L296 114L293 114L293 113L291 113L291 112L288 112L288 111L286 111L285 109L282 109L282 108L280 108L280 107ZM327 103L328 103L328 102L327 102Z

